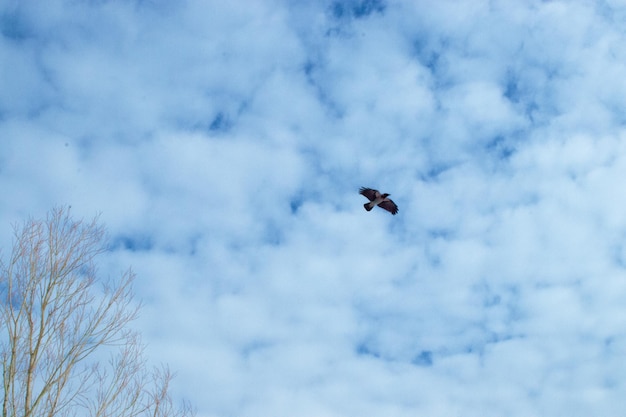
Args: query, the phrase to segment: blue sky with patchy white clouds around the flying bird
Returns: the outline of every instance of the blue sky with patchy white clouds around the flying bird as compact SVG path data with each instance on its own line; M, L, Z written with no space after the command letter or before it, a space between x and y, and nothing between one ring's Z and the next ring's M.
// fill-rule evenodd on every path
M199 417L623 415L625 27L618 0L0 1L2 246L101 213Z

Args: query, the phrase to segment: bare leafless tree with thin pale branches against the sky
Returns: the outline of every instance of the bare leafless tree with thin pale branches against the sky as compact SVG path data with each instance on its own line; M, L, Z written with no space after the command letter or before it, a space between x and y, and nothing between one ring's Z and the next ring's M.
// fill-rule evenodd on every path
M132 271L98 278L97 218L75 221L59 208L14 232L0 261L2 417L191 415L173 406L167 368L147 370L129 328Z

